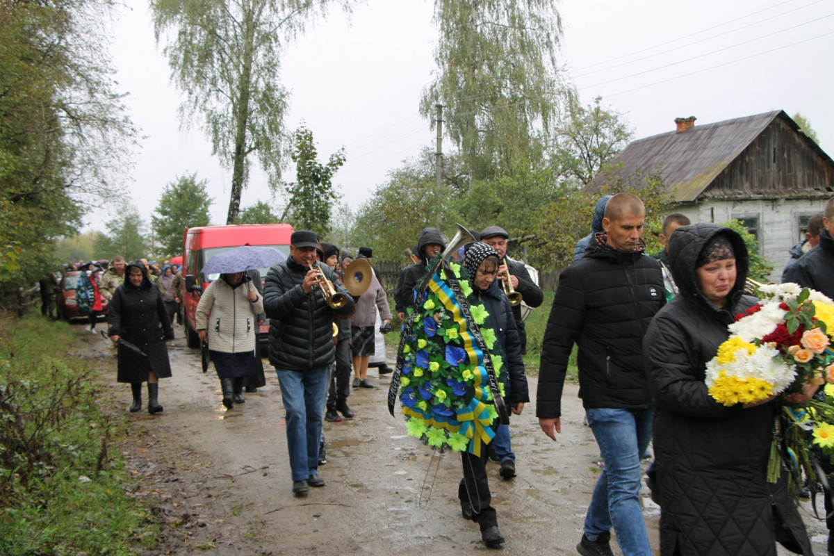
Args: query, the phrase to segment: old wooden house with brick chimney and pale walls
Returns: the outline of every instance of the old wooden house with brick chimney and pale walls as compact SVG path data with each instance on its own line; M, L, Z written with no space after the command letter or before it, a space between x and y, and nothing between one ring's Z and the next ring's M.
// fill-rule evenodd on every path
M788 249L834 194L834 161L781 110L699 126L695 119L630 143L611 161L614 175L660 172L674 212L692 222L741 220L779 281ZM600 174L585 191L598 193L609 179Z

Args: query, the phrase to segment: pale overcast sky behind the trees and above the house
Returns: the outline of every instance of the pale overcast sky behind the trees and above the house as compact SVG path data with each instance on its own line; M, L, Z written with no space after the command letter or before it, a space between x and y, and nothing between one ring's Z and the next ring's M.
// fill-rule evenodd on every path
M129 93L128 113L143 135L129 184L133 205L149 222L165 184L197 173L214 198L212 223L225 223L231 173L211 156L198 125L181 128L181 97L147 2L127 3L112 52L118 87ZM287 128L306 123L322 161L345 148L334 183L351 208L404 158L434 147L435 133L418 114L435 70L433 11L428 0L368 0L349 21L332 10L284 54ZM584 103L601 96L636 138L671 131L677 117L696 116L698 125L781 109L805 116L834 155L834 0L565 0L560 13L560 63ZM284 175L294 178L294 168ZM258 200L272 203L255 163L241 207ZM97 211L85 229L103 230L112 217Z

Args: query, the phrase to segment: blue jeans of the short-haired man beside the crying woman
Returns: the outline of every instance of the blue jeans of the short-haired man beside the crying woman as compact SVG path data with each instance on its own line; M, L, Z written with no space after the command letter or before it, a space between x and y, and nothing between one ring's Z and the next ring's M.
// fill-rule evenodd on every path
M586 409L585 414L605 460L585 515L585 537L594 541L613 526L625 556L651 556L640 503L640 459L651 440L651 409Z

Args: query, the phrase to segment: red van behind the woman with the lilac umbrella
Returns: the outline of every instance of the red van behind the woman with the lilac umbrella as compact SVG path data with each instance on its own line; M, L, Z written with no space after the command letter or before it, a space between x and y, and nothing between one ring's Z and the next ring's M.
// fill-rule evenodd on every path
M186 228L183 253L183 285L181 292L185 338L189 348L199 348L197 335L197 303L200 294L217 275L206 276L200 270L208 259L229 249L249 243L274 247L289 257L289 237L293 227L289 224L237 224L231 226L203 226ZM259 268L261 280L266 278L269 268ZM267 341L269 319L260 328L261 340Z

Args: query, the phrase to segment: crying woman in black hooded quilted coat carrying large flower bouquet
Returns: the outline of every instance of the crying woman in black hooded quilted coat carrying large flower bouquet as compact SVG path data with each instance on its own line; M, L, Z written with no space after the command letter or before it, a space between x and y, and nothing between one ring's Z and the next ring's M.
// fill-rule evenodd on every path
M776 554L778 540L811 554L786 473L767 482L774 396L719 403L707 363L730 336L734 317L758 299L744 295L747 250L730 228L678 228L669 244L681 294L657 313L643 353L655 403L656 499L661 554ZM813 388L794 394L810 398Z

